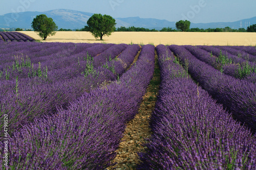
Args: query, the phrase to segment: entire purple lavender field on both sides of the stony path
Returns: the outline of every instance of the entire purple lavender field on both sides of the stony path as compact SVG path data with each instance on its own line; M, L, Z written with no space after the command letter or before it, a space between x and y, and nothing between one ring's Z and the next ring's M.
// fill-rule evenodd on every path
M161 84L153 135L137 169L256 168L255 47L1 37L3 169L112 166L153 78L155 55Z

